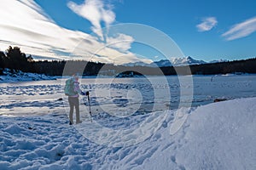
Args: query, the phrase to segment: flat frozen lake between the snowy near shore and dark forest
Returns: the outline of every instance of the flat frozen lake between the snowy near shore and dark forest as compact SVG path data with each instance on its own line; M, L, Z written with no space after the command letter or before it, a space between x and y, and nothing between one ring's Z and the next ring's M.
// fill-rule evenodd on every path
M0 83L0 113L44 115L63 106L66 108L65 80ZM192 106L198 106L217 98L255 97L255 87L256 75L194 76L182 77L182 80L178 77L81 79L81 88L90 91L92 111L115 116L177 109L188 105L185 103L189 103L189 99ZM84 96L80 101L81 105L87 105ZM38 113L38 107L42 112Z

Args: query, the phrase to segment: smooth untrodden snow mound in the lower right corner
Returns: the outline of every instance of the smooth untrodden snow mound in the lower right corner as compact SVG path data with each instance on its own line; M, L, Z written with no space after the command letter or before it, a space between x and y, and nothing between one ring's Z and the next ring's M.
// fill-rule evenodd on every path
M195 110L177 163L189 169L256 169L255 101L236 99Z

